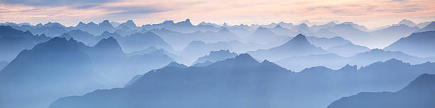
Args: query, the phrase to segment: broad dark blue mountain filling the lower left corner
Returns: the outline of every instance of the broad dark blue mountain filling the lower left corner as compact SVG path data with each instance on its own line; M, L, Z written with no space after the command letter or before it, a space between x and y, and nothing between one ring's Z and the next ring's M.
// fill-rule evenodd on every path
M0 107L47 107L59 97L104 87L82 45L54 37L23 50L0 72Z

